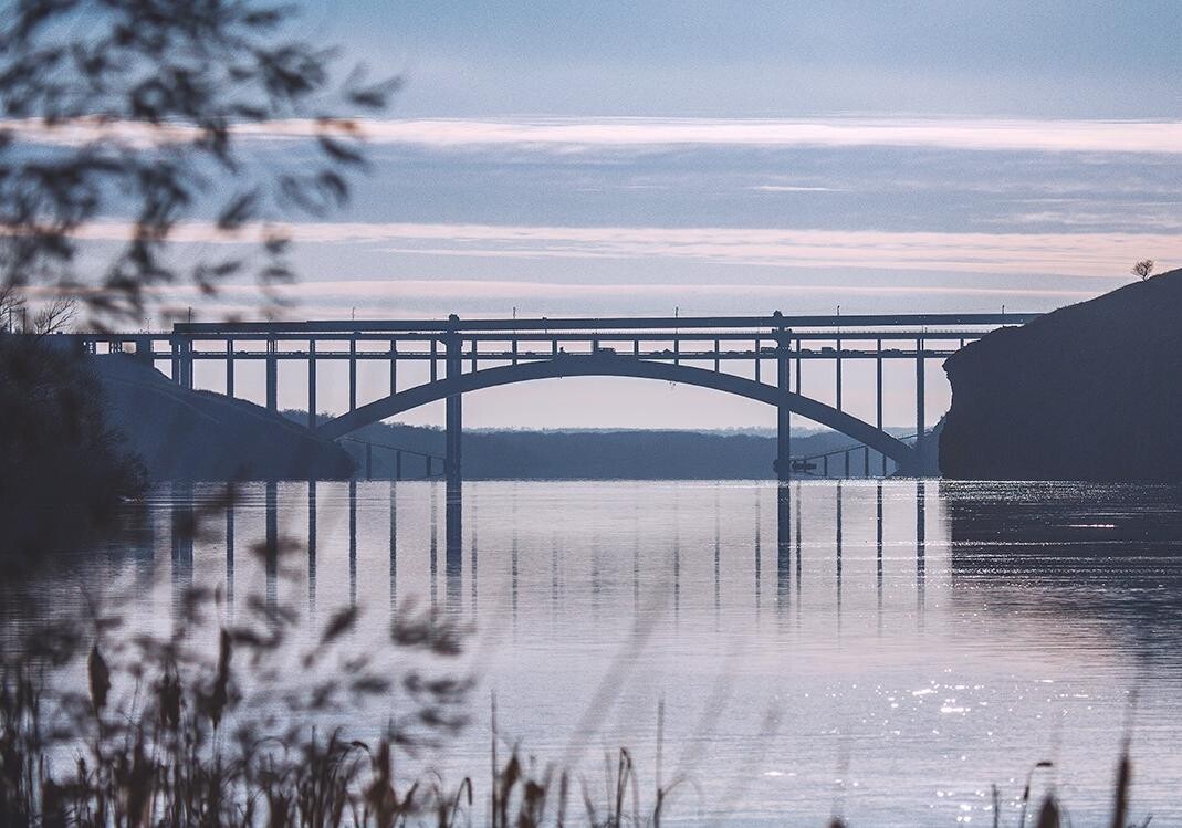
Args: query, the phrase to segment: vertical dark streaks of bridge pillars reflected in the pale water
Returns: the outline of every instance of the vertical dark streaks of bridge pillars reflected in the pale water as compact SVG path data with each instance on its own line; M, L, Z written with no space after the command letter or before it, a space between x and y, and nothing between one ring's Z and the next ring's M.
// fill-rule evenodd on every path
M279 594L279 582L281 580L280 569L280 539L279 532L280 526L284 520L280 489L287 484L281 483L264 483L261 488L261 500L264 513L264 536L258 545L260 550L265 550L262 556L265 567L265 594L268 602L274 604L278 600ZM325 502L320 497L322 490L326 487L336 487L337 484L326 484L309 482L306 484L306 563L305 573L306 578L306 596L307 607L310 614L316 612L317 604L319 602L319 585L323 579L323 559L324 559L324 543L325 534L323 523L323 516L320 514L322 509L325 508ZM402 569L405 554L414 554L414 546L407 547L403 540L403 526L402 509L404 508L403 501L408 497L416 502L424 502L427 507L427 514L422 516L421 521L417 517L411 517L415 521L411 533L418 534L423 533L426 535L426 543L423 545L426 552L426 561L428 563L428 582L423 585L421 594L428 596L431 605L435 606L439 602L439 608L447 612L475 612L480 606L480 579L479 579L479 565L481 562L480 556L480 543L479 543L479 532L476 521L476 497L478 493L487 487L487 484L480 483L453 483L450 487L440 483L420 483L420 482L383 482L381 484L365 483L358 481L351 481L340 484L344 488L342 494L345 495L343 498L345 501L345 542L342 545L345 553L345 572L348 573L348 600L351 605L357 605L361 601L362 583L365 580L365 563L363 559L365 558L365 545L366 541L363 539L366 524L372 522L372 510L374 510L374 487L382 487L382 503L383 503L383 547L388 549L388 594L387 604L392 608L397 606L400 598L409 596L407 586L403 583ZM810 495L810 500L816 503L816 508L819 511L812 515L810 509L806 508L804 496L806 493L820 494L813 484L793 482L778 484L774 489L775 497L775 517L774 526L772 530L774 532L774 548L775 548L775 602L779 612L786 612L790 605L793 602L793 579L795 580L797 596L797 613L799 617L800 607L799 599L801 596L803 589L808 581L808 574L812 572L817 565L825 563L827 561L829 566L833 569L833 581L832 595L833 595L833 607L836 611L834 621L840 624L842 609L846 596L846 569L847 569L847 556L850 552L849 541L849 513L850 507L847 501L853 498L856 504L862 502L868 502L872 508L872 522L869 527L872 532L872 540L868 539L873 546L873 585L876 595L876 612L881 615L884 608L884 583L886 580L885 572L885 524L886 514L885 504L886 498L884 494L884 484L882 482L875 484L863 484L863 483L851 483L849 481L833 481L824 485L824 490L832 497L832 509L825 510L820 508L820 504L816 501L813 495ZM926 549L927 549L927 493L924 484L911 483L914 485L914 498L913 498L913 514L914 514L914 550L915 550L915 596L916 606L920 612L923 611L924 606L924 581L926 581ZM539 484L540 489L545 489ZM765 522L765 509L764 509L764 494L765 487L752 487L749 491L749 508L751 508L751 558L747 572L749 573L749 604L743 600L739 600L736 606L741 607L743 605L751 606L756 613L760 612L762 606L762 593L764 593L764 543L767 532L767 524ZM668 589L668 595L670 600L670 609L673 617L676 618L683 606L687 598L687 566L690 571L696 573L695 556L690 550L703 548L708 549L707 558L707 572L709 578L708 595L710 598L710 606L714 611L715 618L721 618L721 613L727 607L729 591L727 588L728 581L733 581L736 574L733 566L729 567L726 562L726 520L725 514L732 509L729 503L725 503L723 495L726 495L727 501L733 501L735 498L734 490L726 488L723 484L712 484L708 488L707 501L709 507L706 511L708 516L708 535L706 543L697 546L695 543L687 543L683 539L683 532L690 529L696 523L695 513L693 509L687 509L683 506L683 495L689 495L691 498L697 500L701 497L701 489L687 489L686 491L678 491L676 487L670 491L669 502L669 519L668 519L668 533L669 540L665 547L669 552L667 553L665 560L668 561L667 575L663 578L657 578L657 582L665 583ZM422 496L422 500L420 500ZM169 497L167 498L169 503L169 510L171 516L171 523L174 527L173 532L173 547L171 547L171 561L173 561L173 578L174 583L181 589L188 582L193 580L193 540L188 536L184 527L190 526L193 522L193 509L194 500L196 495L194 494L193 487L184 484L176 484L170 488ZM443 498L442 515L440 515L439 500ZM339 501L336 501L339 502ZM329 507L333 508L331 504L333 501L327 501ZM643 605L642 601L642 587L645 583L645 509L641 507L638 500L630 503L631 521L630 521L630 533L629 543L630 549L630 571L628 582L631 587L631 609L634 613L638 612ZM230 605L236 600L236 587L235 587L235 554L239 548L241 548L241 534L242 534L242 509L249 513L249 502L240 504L238 509L228 508L225 513L225 535L222 539L222 550L225 554L225 589L226 595ZM507 537L504 548L507 553L505 561L507 563L507 608L509 609L514 620L518 620L522 609L524 592L527 589L527 582L531 581L527 572L526 563L524 561L524 555L526 555L522 548L522 536L521 536L521 516L519 511L518 503L518 487L515 484L509 484L506 495L502 495L502 502L496 507L502 509L502 515L496 520L498 526L502 526L506 529ZM860 509L860 507L859 507ZM897 509L897 507L896 507ZM816 526L810 527L810 520L812 520ZM862 529L862 517L856 519L858 523L858 534L863 532ZM548 602L553 607L558 607L561 602L561 598L565 594L564 585L566 583L566 578L564 578L564 571L567 567L565 562L564 548L570 543L569 540L560 537L557 530L559 522L556 522L554 529L548 534L547 543L547 558L545 565L545 571L548 572L547 580L547 598ZM827 527L830 535L829 541L818 541L818 549L823 550L820 558L810 554L806 547L806 539L814 534L814 530L824 532ZM440 532L442 532L442 549L440 549ZM297 537L298 539L298 537ZM574 541L578 543L578 541ZM612 566L608 563L609 553L611 552L611 546L613 541L610 539L602 539L596 533L590 533L585 536L583 541L586 547L586 554L583 560L587 565L587 600L593 611L598 612L602 608L602 601L613 589L612 576L609 573ZM465 550L467 549L467 555ZM440 572L440 555L442 554L442 573ZM532 552L530 553L532 555ZM605 558L605 555L609 555ZM689 555L687 558L687 555ZM795 559L793 563L793 558ZM807 566L806 566L807 565ZM465 572L467 566L467 573ZM413 567L414 569L415 567ZM740 568L741 569L741 568ZM442 583L440 583L440 578L442 575ZM468 580L468 588L465 589L465 578ZM697 578L696 574L690 576L694 581ZM695 583L696 586L696 583ZM440 589L442 588L442 593ZM467 598L467 606L465 606Z

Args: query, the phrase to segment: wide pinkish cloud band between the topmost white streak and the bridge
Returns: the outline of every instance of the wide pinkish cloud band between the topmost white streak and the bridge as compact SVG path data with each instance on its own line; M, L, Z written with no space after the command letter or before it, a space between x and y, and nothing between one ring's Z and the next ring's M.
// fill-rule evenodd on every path
M1182 261L1182 235L1165 233L935 233L722 227L554 227L521 224L306 222L281 226L305 245L372 245L377 252L485 259L686 260L717 265L1122 276L1145 256ZM130 227L82 228L123 240ZM236 241L261 237L248 228ZM178 242L225 242L206 223L177 226ZM391 242L395 242L391 245Z

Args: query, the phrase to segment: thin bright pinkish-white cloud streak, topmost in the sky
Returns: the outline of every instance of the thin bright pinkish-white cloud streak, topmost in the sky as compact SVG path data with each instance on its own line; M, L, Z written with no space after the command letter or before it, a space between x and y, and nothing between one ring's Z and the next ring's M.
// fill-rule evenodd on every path
M431 149L508 146L578 151L589 148L675 146L862 148L909 146L970 151L1182 154L1182 122L1033 120L952 118L567 118L530 120L362 119L361 132L375 144ZM0 126L31 141L77 144L100 135L131 143L188 141L183 124L152 128L138 123L100 124L79 119L54 128L37 120ZM318 135L314 120L241 124L239 136L262 141Z

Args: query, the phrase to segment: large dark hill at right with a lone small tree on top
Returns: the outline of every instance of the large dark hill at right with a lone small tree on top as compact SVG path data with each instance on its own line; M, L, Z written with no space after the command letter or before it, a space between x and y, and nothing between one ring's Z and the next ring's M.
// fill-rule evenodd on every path
M1182 270L995 331L944 371L947 477L1182 481Z

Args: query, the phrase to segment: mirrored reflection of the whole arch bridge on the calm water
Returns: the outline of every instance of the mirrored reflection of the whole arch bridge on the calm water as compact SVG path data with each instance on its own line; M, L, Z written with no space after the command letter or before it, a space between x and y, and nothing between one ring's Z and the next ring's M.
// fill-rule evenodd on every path
M285 578L306 580L304 594L307 614L314 618L318 605L325 600L322 594L325 573L329 582L344 587L342 596L346 595L350 604L361 602L362 594L365 600L371 600L374 578L377 575L374 566L381 566L382 560L374 555L374 530L379 523L384 523L384 543L382 540L378 543L388 547L388 554L384 555L388 572L383 574L388 575L388 604L391 611L401 600L418 596L428 600L440 612L476 613L485 599L480 589L481 578L491 576L496 581L494 586L498 592L505 589L500 593L504 594L504 607L498 608L507 612L514 627L524 611L532 614L539 601L547 599L552 615L561 612L572 600L587 601L595 617L599 615L604 606L618 611L618 595L609 599L613 604L605 605L604 600L609 594L621 593L622 588L631 593L629 604L634 613L644 611L655 600L668 600L675 619L686 608L687 598L695 612L700 612L703 588L707 606L715 617L721 618L743 606L752 608L758 617L764 608L765 588L769 588L775 612L786 617L795 604L799 619L804 602L803 586L807 583L812 591L821 587L826 579L824 573L829 569L831 598L827 600L836 606L837 619L840 621L851 572L857 579L858 600L862 600L860 595L865 594L865 586L869 583L875 595L873 606L879 615L883 613L886 565L890 558L900 558L898 552L890 556L885 553L885 490L889 487L892 497L891 515L898 514L900 501L910 503L908 508L914 510L914 530L907 533L910 534L909 548L914 560L914 607L921 618L926 609L928 484L923 481L902 484L881 481L778 484L772 493L775 503L774 520L771 522L765 521L764 498L768 494L766 485L736 489L734 485L716 484L712 493L704 495L702 487L687 488L686 500L675 490L670 496L670 514L661 523L667 529L663 533L664 552L661 549L661 527L657 527L657 536L654 539L654 527L647 524L639 498L634 498L630 503L631 516L625 519L630 523L626 530L630 540L623 545L624 549L630 546L624 553L626 563L618 555L622 550L618 528L608 527L609 533L604 535L598 529L582 534L580 527L566 532L560 524L544 526L545 537L539 540L537 516L518 514L517 487L496 485L502 488L494 497L496 503L488 507L493 509L492 516L486 517L483 509L478 510L478 495L488 484L396 481L311 482L305 485L266 483L260 487L261 491L255 490L253 498L247 497L226 508L221 522L225 533L222 537L202 540L199 536L197 542L215 549L221 547L225 561L223 588L229 608L249 594L249 591L243 593L241 585L235 583L243 560L251 563L252 572L262 575L262 593L269 606L275 606L280 595L290 600L292 593L284 586ZM908 489L903 487L913 485L913 494L905 495ZM325 491L330 493L327 498ZM736 495L736 491L740 494ZM741 503L743 498L742 491L749 491L748 529L741 529L741 524L735 524L732 520L735 502ZM726 508L723 494L728 501ZM804 497L806 494L807 498ZM531 502L537 493L528 495ZM190 532L195 503L200 497L200 494L195 495L191 484L177 484L170 491L171 574L177 598L194 582L195 569L201 568L194 561L195 541ZM303 507L293 508L293 497L301 498ZM687 500L693 507L686 506ZM411 511L403 514L408 508ZM426 510L426 514L420 509ZM258 515L260 511L261 515ZM299 513L306 514L306 524L297 519L303 517ZM480 546L485 539L482 519L496 524L495 545L488 549L481 549ZM326 520L329 523L325 523ZM243 547L243 539L252 536L251 527L258 527L259 523L262 537ZM812 529L807 528L810 523ZM330 529L336 527L330 533L327 543L325 526ZM296 540L306 540L306 553L287 554L290 543L281 536L281 530L282 534L292 533ZM771 573L774 580L771 581L765 561L769 530L775 533L775 568ZM895 533L898 530L900 527L896 526ZM746 563L741 556L735 558L743 546L741 537L733 537L743 532L749 533L749 556ZM905 545L907 541L896 540L891 546L904 549L905 555L908 547L900 543ZM243 559L240 554L242 548L256 554ZM481 552L485 554L481 555ZM502 553L504 558L494 553ZM494 554L494 558L488 559L488 554ZM576 558L571 558L572 554ZM851 554L853 559L850 559ZM579 555L585 559L585 565L579 563ZM208 555L203 553L201 558L204 560ZM258 562L251 559L258 559ZM486 560L493 561L489 573L483 572L480 566ZM852 571L849 569L851 560L857 565ZM586 581L572 580L572 566L586 567ZM749 587L743 591L748 598L741 598L734 592L738 583L735 579L741 578L743 572L749 573L751 578ZM896 568L892 578L900 575ZM209 576L200 575L206 581ZM691 593L687 593L689 587L693 588ZM336 587L333 592L340 595ZM664 599L661 599L662 593ZM339 599L333 598L333 604L337 600ZM180 609L180 605L176 608Z

